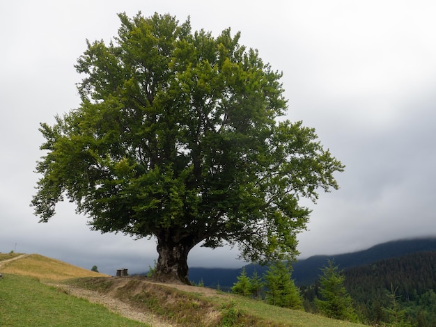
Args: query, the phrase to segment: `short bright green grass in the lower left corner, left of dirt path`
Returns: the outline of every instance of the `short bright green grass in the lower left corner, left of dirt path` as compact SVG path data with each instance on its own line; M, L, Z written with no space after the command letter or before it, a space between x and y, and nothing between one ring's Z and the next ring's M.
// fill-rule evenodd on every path
M0 326L147 326L76 298L36 278L3 274Z

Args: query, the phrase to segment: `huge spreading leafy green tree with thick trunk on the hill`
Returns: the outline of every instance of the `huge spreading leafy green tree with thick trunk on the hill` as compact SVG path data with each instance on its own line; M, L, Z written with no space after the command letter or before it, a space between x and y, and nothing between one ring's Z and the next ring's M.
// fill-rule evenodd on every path
M94 230L154 237L160 280L189 283L197 244L238 244L251 262L295 257L310 214L300 198L336 189L343 165L314 129L279 119L281 73L230 29L118 16L118 36L87 41L77 61L79 108L41 124L40 221L68 198Z

